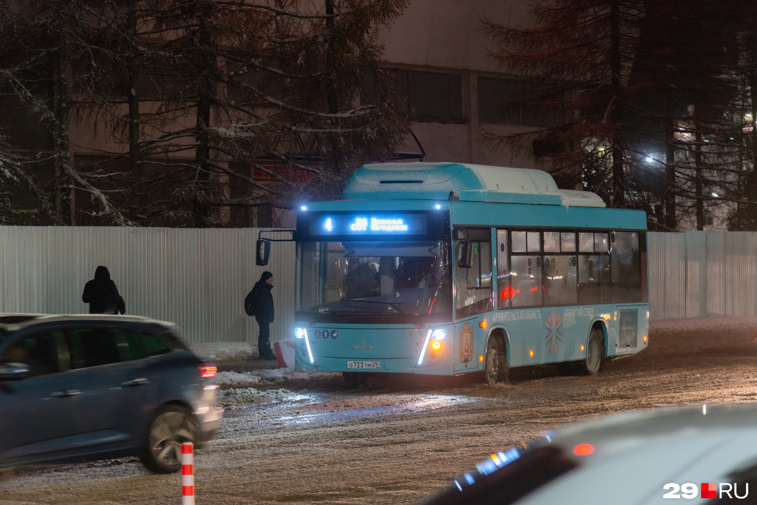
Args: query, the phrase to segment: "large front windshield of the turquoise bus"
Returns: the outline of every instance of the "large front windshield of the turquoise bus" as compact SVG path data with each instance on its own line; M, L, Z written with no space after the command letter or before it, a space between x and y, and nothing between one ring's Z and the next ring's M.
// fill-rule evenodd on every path
M434 242L301 242L298 310L311 320L451 319L450 247ZM326 318L326 319L324 319Z

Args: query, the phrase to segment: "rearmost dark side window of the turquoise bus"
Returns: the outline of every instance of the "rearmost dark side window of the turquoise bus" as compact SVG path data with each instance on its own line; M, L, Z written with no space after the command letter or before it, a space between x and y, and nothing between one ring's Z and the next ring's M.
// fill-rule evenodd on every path
M610 232L613 304L640 302L641 257L638 232Z

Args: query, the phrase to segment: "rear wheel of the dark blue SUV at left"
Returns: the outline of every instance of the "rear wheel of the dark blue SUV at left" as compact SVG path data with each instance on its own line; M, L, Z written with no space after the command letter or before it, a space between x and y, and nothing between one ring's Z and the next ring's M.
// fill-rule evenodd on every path
M198 439L195 416L181 405L160 408L150 425L142 463L157 473L178 472L182 467L182 442Z

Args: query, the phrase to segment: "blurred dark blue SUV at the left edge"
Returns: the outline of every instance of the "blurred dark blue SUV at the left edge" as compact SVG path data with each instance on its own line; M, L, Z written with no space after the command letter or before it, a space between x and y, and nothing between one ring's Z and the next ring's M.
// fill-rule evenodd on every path
M139 456L181 468L220 423L216 367L172 323L0 314L0 467Z

